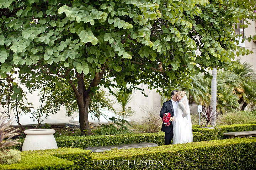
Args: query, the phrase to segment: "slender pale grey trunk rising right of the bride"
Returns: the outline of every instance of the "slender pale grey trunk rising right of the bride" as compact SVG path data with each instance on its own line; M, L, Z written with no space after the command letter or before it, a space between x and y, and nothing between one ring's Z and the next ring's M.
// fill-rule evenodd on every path
M213 107L213 111L216 110L216 105L217 105L217 69L213 68L212 70L212 97L211 97L211 103L210 106ZM213 124L215 124L216 121L216 112L215 115L213 116Z

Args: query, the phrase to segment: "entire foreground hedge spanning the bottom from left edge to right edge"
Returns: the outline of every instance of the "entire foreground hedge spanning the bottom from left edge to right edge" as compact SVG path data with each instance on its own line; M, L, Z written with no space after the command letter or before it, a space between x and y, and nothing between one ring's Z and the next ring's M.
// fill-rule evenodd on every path
M21 162L1 170L256 169L256 138L234 138L90 153L59 148L22 152Z

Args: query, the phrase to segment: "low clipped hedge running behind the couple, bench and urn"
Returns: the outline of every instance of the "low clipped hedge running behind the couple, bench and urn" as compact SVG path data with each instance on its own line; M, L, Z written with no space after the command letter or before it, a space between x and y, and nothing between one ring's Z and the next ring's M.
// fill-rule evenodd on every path
M250 131L256 130L256 124L236 124L219 126L218 129L198 128L193 125L193 141L210 141L228 138L224 136L225 132ZM56 137L58 147L72 147L85 149L87 147L121 145L127 143L149 142L156 143L159 146L164 145L164 132L149 134L125 134L125 135L100 135L100 136L68 136ZM21 150L22 143L16 145L14 149Z

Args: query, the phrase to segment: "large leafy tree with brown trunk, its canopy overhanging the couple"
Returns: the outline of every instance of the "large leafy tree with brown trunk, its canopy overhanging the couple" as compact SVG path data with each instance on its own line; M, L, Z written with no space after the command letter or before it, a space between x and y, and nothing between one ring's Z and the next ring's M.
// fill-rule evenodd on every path
M42 78L69 84L81 131L91 134L88 107L99 85L126 89L130 83L130 90L145 83L167 94L190 87L188 75L235 66L234 52L250 51L234 43L239 35L232 24L252 19L254 3L1 0L0 75L18 68L27 87Z

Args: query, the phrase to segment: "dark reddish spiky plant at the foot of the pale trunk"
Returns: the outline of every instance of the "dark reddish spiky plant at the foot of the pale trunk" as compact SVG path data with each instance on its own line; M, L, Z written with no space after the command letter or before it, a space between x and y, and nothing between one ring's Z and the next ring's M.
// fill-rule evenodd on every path
M201 112L202 123L199 125L199 127L204 126L204 128L206 128L208 125L212 125L214 128L219 129L216 126L218 119L215 117L215 115L217 116L218 112L217 110L213 110L212 106L203 106L203 111Z

